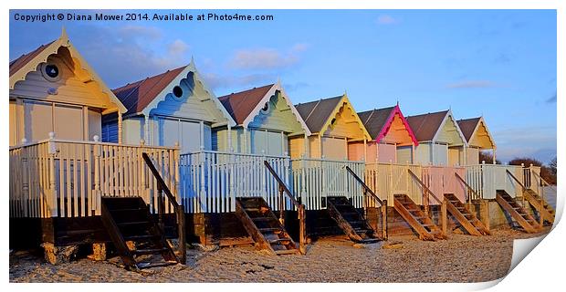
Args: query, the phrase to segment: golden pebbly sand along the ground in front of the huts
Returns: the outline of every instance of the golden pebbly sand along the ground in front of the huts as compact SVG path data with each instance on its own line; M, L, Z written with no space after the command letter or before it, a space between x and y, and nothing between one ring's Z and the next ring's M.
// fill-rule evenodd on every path
M251 246L194 248L188 250L186 266L143 273L113 264L118 257L52 266L20 251L10 255L9 273L10 282L483 282L507 274L514 238L533 236L514 230L481 237L452 234L437 242L393 236L386 245L398 244L394 248L357 246L338 236L309 245L307 255L279 256Z

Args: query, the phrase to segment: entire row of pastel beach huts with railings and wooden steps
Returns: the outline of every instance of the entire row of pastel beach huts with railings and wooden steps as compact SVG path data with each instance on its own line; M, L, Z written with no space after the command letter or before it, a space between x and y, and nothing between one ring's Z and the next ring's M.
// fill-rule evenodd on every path
M483 117L293 104L279 81L216 97L193 60L109 89L64 30L9 71L10 245L52 263L79 245L142 268L183 263L187 241L283 255L553 222L538 167L479 161L496 158Z

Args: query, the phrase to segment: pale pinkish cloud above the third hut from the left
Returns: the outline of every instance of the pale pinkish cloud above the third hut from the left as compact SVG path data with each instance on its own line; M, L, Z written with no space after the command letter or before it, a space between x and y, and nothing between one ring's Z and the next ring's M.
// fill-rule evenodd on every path
M228 62L229 68L236 69L274 69L288 68L297 64L300 53L307 50L307 44L295 44L287 52L270 47L237 50Z

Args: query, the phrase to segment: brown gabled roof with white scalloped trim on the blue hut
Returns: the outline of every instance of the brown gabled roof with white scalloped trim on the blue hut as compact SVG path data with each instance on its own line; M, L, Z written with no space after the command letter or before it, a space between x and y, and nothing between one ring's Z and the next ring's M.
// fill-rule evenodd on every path
M183 78L187 78L190 73L193 73L194 78L201 83L204 90L215 103L216 109L222 112L222 115L228 120L228 123L231 126L236 125L236 122L215 97L215 93L204 83L203 78L201 78L198 70L194 66L194 59L191 59L191 63L187 66L167 70L162 74L128 83L112 91L114 91L118 99L124 103L124 106L128 109L127 114L129 116L137 114L149 116L150 111L156 108L159 102L164 100L167 94L172 92L173 88L179 85Z

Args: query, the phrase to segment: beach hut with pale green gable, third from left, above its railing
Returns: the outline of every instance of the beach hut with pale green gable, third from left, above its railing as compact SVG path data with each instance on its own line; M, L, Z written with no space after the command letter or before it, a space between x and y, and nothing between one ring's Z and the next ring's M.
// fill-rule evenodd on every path
M236 126L213 130L215 151L286 156L289 139L310 134L279 82L218 99Z

